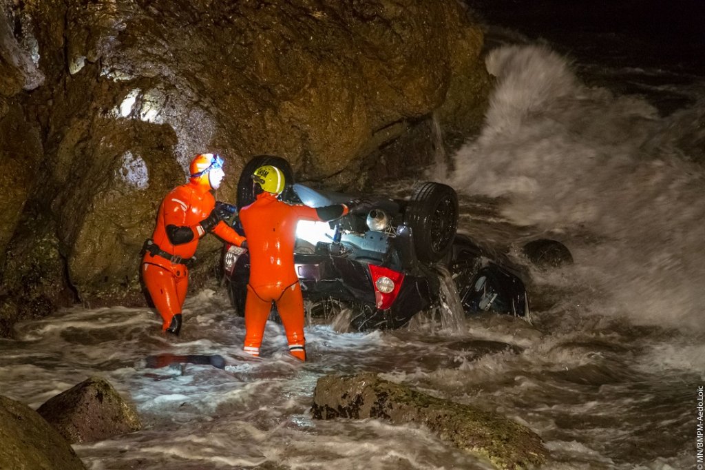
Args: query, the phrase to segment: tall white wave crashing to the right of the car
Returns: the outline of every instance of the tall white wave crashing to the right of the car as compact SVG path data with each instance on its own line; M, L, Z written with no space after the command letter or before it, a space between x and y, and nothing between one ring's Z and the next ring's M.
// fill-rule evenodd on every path
M704 331L705 171L673 145L671 121L587 88L544 47L502 47L487 63L487 124L454 156L451 184L505 198L514 224L564 234L594 311Z

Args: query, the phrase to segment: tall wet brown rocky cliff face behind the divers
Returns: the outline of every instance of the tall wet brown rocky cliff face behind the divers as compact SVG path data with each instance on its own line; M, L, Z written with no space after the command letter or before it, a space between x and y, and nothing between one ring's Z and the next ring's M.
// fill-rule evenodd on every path
M225 157L221 200L263 153L359 184L429 116L477 129L489 91L455 0L0 6L0 335L76 301L144 303L142 242L197 152Z

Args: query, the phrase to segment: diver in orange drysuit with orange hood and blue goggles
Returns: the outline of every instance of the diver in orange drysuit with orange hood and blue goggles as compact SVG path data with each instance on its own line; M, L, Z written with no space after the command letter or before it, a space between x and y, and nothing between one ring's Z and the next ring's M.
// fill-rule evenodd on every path
M162 330L178 335L181 306L188 288L188 265L199 239L212 231L238 246L245 238L222 222L227 212L216 205L211 190L223 181L223 159L218 154L196 155L190 164L188 183L166 195L157 215L152 239L145 242L142 279L154 306L164 320Z

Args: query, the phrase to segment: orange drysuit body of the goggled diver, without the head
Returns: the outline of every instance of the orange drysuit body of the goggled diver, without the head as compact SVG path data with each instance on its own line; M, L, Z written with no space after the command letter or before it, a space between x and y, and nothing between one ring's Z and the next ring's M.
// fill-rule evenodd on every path
M162 330L169 327L174 315L181 313L188 288L188 267L185 263L192 258L199 239L206 234L200 223L214 207L215 198L210 186L198 179L191 179L173 189L159 207L152 241L163 253L145 253L142 279L164 320ZM212 231L228 243L240 246L245 241L243 236L222 221Z

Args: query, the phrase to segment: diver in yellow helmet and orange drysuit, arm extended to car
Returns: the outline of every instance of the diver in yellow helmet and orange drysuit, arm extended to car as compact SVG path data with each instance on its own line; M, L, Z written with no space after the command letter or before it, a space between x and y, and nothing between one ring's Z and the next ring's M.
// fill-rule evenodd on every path
M289 205L278 200L284 190L284 175L276 167L264 166L252 175L257 198L240 210L240 222L250 250L250 282L245 301L245 352L259 356L271 303L286 330L289 352L306 360L304 303L294 268L296 224L299 220L327 222L361 206L359 200L326 207Z

